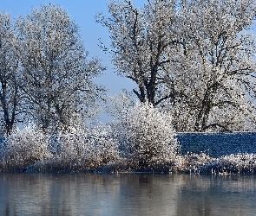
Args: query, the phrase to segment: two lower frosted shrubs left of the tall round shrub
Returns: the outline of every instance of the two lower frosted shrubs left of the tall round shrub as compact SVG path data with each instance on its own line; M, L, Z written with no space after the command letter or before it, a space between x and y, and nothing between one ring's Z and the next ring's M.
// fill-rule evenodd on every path
M119 159L118 143L111 137L111 127L72 128L49 136L30 125L5 137L0 168L57 172L101 168Z

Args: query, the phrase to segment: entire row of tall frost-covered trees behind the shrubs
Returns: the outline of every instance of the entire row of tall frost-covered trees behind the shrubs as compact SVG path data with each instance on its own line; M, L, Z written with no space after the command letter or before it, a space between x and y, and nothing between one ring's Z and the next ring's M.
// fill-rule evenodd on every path
M141 103L171 111L175 130L255 130L255 11L255 0L148 0L141 8L111 0L96 22L109 31L110 47L101 47L116 72L135 83ZM0 14L0 63L6 134L19 121L67 130L94 116L104 97L94 79L105 67L89 59L78 26L56 4L15 22ZM122 106L109 112L120 116Z

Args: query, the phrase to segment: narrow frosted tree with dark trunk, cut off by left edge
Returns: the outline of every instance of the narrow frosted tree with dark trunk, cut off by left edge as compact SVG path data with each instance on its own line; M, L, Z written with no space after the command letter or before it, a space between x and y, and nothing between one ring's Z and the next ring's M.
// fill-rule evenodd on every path
M10 135L21 108L16 46L11 17L0 13L0 136Z

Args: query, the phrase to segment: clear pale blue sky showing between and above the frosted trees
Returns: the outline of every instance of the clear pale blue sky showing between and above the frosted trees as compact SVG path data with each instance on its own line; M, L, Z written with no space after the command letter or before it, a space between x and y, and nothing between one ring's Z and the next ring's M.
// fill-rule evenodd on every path
M140 7L147 0L134 0L136 6ZM132 90L133 83L127 78L121 78L114 73L114 66L111 64L109 54L102 53L98 47L99 39L104 44L109 44L108 30L101 24L95 22L95 16L98 12L108 15L108 0L0 0L0 10L10 13L13 18L30 14L30 11L42 4L56 3L67 10L71 18L80 27L80 34L84 47L89 51L90 57L98 57L102 64L107 67L101 78L96 79L108 88L108 94L115 95L121 92L122 88ZM101 115L102 121L108 121L105 115Z

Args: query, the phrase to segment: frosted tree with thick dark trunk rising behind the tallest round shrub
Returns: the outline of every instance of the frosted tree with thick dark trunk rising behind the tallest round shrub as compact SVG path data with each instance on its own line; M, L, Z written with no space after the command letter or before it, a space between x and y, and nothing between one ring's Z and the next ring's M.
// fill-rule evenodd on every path
M109 17L99 15L97 22L105 26L111 38L111 48L116 71L132 79L133 90L141 102L158 105L167 98L174 98L167 55L177 44L175 34L175 1L148 1L137 9L131 1L110 1ZM165 91L164 91L165 90Z

